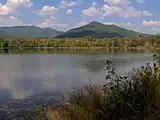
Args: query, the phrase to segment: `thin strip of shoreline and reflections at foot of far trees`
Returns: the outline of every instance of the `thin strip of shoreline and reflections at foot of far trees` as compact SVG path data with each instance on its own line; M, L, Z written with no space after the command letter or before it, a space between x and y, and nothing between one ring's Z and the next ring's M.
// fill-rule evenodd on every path
M145 48L145 47L34 47L34 48L0 48L0 54L3 53L118 53L118 52L144 52L144 53L159 53L160 48Z

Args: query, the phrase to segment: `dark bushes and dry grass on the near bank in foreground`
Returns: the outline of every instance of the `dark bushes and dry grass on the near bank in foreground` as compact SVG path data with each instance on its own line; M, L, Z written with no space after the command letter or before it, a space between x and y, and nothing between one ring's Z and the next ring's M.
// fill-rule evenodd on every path
M106 61L106 82L73 89L68 106L40 106L21 111L12 119L20 120L159 120L160 57L153 64L135 70L129 76L116 74Z

